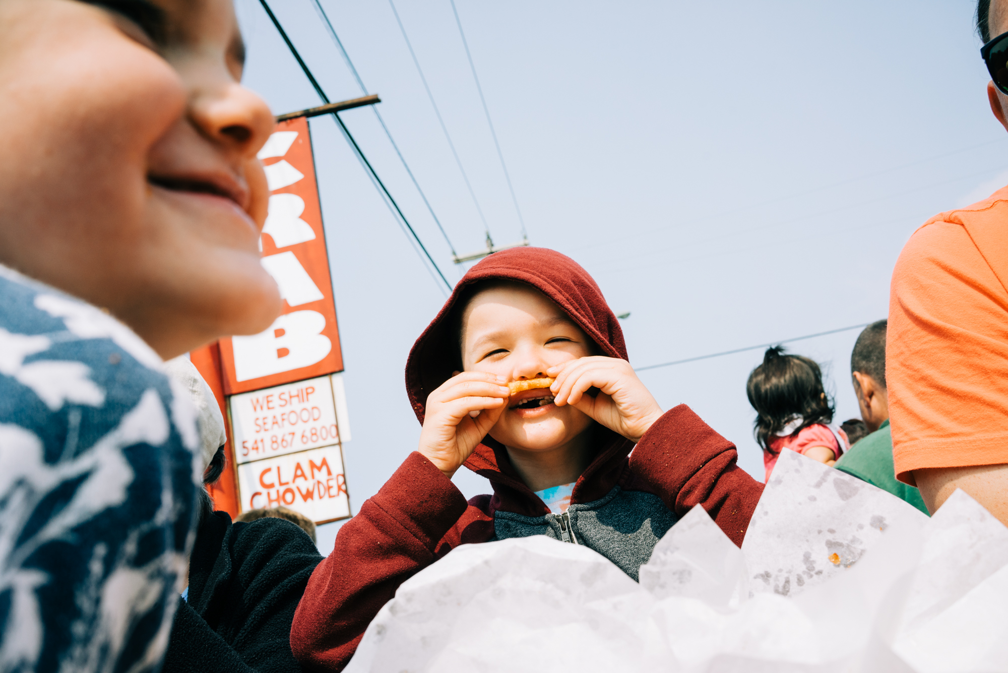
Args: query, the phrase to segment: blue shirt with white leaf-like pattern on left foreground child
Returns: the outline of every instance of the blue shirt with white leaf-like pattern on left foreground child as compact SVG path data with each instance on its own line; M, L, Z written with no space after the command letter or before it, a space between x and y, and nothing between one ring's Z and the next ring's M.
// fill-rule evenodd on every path
M0 670L160 666L202 466L160 368L120 322L0 266Z

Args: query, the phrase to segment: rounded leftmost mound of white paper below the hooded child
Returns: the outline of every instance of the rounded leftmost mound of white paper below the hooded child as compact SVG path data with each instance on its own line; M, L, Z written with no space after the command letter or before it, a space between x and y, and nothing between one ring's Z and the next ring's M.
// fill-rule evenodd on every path
M674 670L653 603L588 547L541 535L463 545L399 587L346 671Z

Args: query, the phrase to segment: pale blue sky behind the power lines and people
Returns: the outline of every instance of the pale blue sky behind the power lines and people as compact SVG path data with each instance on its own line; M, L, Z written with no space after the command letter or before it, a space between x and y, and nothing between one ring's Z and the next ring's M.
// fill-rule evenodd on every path
M483 225L387 0L323 0L460 253ZM574 257L637 366L884 317L900 249L931 215L1008 183L972 0L507 3L457 0L533 245ZM240 0L246 83L276 113L320 104L256 0ZM360 89L308 0L271 3L333 101ZM398 0L490 231L520 230L448 0ZM451 261L372 111L344 113L449 280ZM445 299L331 118L311 124L353 440L356 512L416 445L403 387ZM857 331L794 344L858 416ZM745 381L761 351L655 369L762 479ZM467 470L467 496L488 485ZM324 552L337 524L320 531Z

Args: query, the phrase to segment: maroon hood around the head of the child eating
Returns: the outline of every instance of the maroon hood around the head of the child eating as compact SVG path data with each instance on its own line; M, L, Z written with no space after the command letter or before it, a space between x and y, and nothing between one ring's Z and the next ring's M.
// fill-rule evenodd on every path
M580 264L566 255L546 248L502 250L484 258L469 270L409 352L409 359L406 361L406 390L413 411L421 423L427 395L452 378L452 372L459 369L459 347L454 333L457 311L464 308L463 302L472 296L474 286L488 280L527 283L562 308L595 342L600 355L629 360L619 320L602 296L602 290ZM626 440L615 441L622 438L609 430L601 429L601 433L602 444L626 444L624 456L632 447ZM610 453L608 450L605 452ZM517 480L517 474L509 463L503 446L487 436L466 461L466 466L492 480L495 476L491 473L503 473L509 478L506 481L511 482ZM590 467L585 477L590 472L594 470ZM520 480L512 486L528 491Z

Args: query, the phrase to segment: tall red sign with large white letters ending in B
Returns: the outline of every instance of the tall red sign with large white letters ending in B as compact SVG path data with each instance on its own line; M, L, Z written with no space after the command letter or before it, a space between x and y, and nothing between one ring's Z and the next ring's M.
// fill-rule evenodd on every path
M307 119L277 124L259 158L270 189L262 265L280 286L283 313L263 332L221 340L228 395L343 370Z

